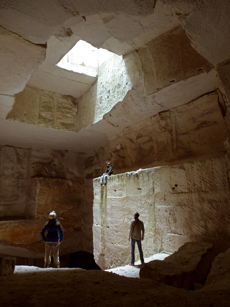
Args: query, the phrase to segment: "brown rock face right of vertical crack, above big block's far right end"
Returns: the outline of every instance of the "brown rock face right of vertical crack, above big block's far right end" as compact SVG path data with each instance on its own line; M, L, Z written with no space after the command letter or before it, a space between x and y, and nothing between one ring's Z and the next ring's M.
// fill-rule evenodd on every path
M191 116L192 114L194 115ZM170 115L177 158L193 153L197 156L202 156L204 152L210 154L214 148L215 151L220 151L228 137L229 132L219 105L218 91L174 108Z

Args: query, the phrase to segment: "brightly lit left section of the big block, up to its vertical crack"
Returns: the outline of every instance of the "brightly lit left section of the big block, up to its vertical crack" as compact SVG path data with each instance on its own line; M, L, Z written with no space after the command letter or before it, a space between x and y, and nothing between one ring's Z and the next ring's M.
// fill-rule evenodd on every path
M105 187L99 186L99 178L94 179L94 257L103 270L130 262L128 232L134 212L140 213L146 227L144 256L156 253L152 178L152 169L145 169L112 175Z

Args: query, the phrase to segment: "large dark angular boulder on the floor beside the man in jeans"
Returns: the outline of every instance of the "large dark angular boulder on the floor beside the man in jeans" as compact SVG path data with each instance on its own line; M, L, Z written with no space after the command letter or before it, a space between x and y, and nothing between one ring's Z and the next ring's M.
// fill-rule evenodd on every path
M193 289L194 283L202 284L205 281L214 257L213 244L187 242L164 260L145 263L140 269L140 278Z

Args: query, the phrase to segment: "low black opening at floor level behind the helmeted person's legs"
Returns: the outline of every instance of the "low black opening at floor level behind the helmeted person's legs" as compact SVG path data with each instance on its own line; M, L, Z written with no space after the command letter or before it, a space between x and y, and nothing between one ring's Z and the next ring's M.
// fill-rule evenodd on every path
M77 251L68 255L59 256L60 268L80 268L85 270L101 270L94 260L94 255L87 251ZM16 266L44 267L44 258L16 257ZM51 256L51 268L54 268Z

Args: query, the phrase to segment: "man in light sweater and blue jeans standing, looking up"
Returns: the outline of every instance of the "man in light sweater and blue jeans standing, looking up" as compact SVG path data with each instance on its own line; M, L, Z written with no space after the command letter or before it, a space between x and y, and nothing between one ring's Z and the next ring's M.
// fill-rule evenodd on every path
M144 256L141 247L141 241L144 240L144 223L142 220L139 220L138 217L140 214L135 212L133 217L134 219L130 223L129 227L129 235L128 235L128 242L130 242L131 238L131 263L130 266L134 266L135 262L135 243L137 243L139 254L140 254L140 262L144 263ZM142 231L142 235L141 235Z

